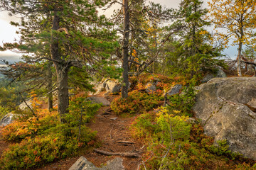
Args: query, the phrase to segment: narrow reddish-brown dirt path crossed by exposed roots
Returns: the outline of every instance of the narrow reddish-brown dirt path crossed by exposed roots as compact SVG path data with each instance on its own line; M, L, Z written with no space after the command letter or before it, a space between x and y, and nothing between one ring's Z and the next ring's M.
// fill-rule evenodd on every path
M102 146L99 148L107 152L137 152L142 155L144 147L141 142L134 140L129 133L129 125L134 118L120 118L111 111L110 107L101 108L99 114L95 117L95 122L90 123L89 128L97 130L97 137L102 141ZM131 144L122 142L131 142ZM85 158L100 166L105 164L108 160L114 159L114 157L121 156L105 156L90 152L85 154ZM137 169L138 164L141 162L141 158L122 157L124 159L124 166L127 170Z

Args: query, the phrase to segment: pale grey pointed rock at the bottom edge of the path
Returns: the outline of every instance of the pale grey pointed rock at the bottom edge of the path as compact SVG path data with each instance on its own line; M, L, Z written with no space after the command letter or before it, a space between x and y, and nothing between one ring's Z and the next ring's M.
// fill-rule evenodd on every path
M69 170L124 170L124 166L122 165L122 158L115 158L112 161L107 162L106 166L102 168L97 168L92 162L88 162L85 157L80 157L73 166L70 167Z

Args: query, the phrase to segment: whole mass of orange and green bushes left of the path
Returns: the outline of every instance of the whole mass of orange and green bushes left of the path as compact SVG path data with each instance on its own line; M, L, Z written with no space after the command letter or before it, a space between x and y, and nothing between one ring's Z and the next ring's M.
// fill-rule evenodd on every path
M60 123L56 111L37 109L36 117L23 116L2 130L5 140L18 142L3 152L1 169L31 169L42 164L76 154L80 147L93 144L96 132L85 126L99 104L75 96L70 101L70 112L65 123Z

